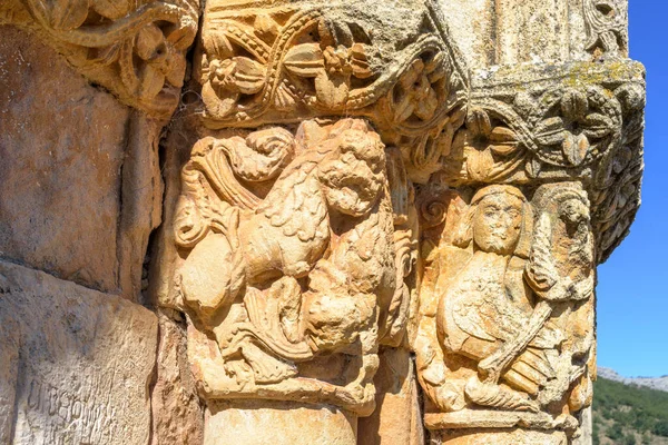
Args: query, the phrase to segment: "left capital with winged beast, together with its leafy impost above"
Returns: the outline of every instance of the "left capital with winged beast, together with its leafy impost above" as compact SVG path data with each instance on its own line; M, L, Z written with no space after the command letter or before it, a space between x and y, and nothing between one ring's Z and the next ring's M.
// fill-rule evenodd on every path
M380 347L409 347L413 184L441 168L468 77L431 2L395 7L207 2L206 136L181 169L164 304L188 316L208 402L369 415Z

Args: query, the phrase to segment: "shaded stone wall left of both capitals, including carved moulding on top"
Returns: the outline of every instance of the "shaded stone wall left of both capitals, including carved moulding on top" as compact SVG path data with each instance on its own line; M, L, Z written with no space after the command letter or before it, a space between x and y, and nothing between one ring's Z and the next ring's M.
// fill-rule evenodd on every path
M157 443L146 255L198 4L75 3L0 6L0 443Z

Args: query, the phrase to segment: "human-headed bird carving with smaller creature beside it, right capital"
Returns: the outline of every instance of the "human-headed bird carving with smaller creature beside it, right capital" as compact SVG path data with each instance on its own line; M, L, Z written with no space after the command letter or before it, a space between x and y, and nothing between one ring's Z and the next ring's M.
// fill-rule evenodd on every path
M554 422L531 417L530 426L577 426L569 413L588 397L592 330L580 310L593 290L588 205L568 184L539 188L533 205L512 186L473 196L455 237L470 257L435 286L442 353L421 346L429 334L418 342L421 379L440 409L542 412Z

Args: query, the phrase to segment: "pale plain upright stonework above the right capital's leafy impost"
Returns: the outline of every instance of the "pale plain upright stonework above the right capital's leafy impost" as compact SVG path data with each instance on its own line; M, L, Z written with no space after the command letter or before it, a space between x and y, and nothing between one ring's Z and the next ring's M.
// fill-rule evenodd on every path
M470 68L628 56L626 0L440 0Z

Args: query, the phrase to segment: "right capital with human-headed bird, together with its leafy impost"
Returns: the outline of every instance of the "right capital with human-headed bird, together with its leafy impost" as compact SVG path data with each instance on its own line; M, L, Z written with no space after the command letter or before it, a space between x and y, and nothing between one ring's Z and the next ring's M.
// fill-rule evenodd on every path
M625 11L603 26L601 8L580 7L582 60L546 51L553 62L473 71L465 123L416 195L423 268L413 346L432 443L581 435L596 377L596 265L640 204L645 73L622 57ZM499 50L527 49L513 48Z

